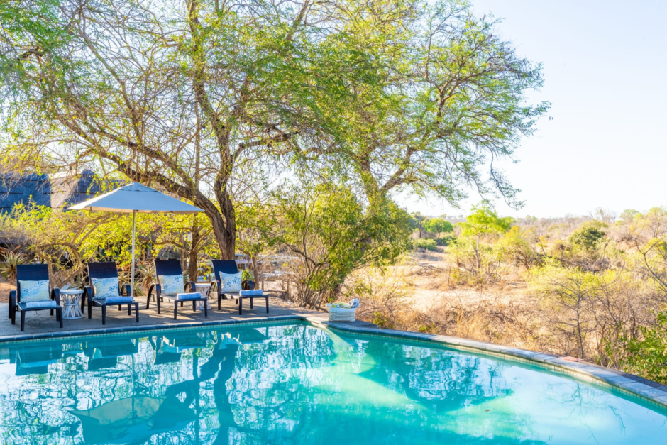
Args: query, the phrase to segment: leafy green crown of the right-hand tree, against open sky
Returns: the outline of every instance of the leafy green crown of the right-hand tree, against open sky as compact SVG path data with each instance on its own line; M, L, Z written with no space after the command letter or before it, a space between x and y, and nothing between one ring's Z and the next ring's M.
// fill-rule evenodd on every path
M520 206L497 160L511 158L549 108L526 97L541 87L541 66L519 57L468 1L429 3L413 2L381 35L367 17L351 19L351 44L369 55L373 82L353 85L351 101L338 104L345 143L290 155L348 169L370 202L407 190L456 204L475 189ZM400 15L389 5L378 12L387 21Z

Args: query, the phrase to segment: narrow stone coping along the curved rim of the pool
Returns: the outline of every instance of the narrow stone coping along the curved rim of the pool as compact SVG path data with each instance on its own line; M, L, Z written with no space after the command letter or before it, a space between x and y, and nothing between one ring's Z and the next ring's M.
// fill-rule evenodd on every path
M241 324L263 324L266 322L307 322L308 324L322 329L342 331L367 336L380 336L395 339L406 339L424 344L439 344L460 351L478 352L487 356L505 358L510 361L536 364L552 372L571 375L586 382L597 383L609 388L615 388L628 395L639 397L646 402L658 407L667 408L667 386L652 382L644 378L624 373L611 368L604 368L585 361L567 361L563 357L554 356L549 353L529 351L512 346L502 346L476 341L461 339L453 336L438 334L424 334L412 331L397 331L395 329L384 329L373 324L354 325L341 322L329 322L326 314L288 314L269 317L252 317L248 319L226 319L211 320L207 322L192 322L179 324L148 324L143 326L122 326L104 329L80 329L77 331L53 331L40 334L21 334L17 336L0 336L0 346L9 343L43 340L43 339L67 339L78 336L102 336L109 334L129 334L133 332L161 331L167 329L193 329L206 326L224 326Z

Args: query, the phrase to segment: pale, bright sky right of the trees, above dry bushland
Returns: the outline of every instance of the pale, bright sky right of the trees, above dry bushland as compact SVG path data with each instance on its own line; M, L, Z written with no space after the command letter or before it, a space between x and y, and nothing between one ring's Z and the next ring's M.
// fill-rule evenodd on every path
M620 213L667 205L666 0L473 0L522 57L541 62L548 118L503 168L522 189L523 209L562 216L596 207ZM443 202L402 197L409 211L461 214Z

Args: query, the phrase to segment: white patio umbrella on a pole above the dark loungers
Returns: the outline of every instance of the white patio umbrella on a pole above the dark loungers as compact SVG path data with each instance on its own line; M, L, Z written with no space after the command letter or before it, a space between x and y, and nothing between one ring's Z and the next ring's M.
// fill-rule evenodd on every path
M111 211L114 213L132 214L132 272L130 296L134 296L134 238L136 233L136 216L138 213L197 213L204 211L178 199L167 196L158 190L151 189L138 182L118 187L113 192L101 194L99 197L70 207L70 210Z

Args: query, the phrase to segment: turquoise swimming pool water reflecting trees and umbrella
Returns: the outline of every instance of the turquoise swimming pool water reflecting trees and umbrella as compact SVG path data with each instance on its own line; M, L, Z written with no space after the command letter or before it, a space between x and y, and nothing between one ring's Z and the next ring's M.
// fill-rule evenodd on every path
M304 324L0 344L0 444L662 444L539 368Z

